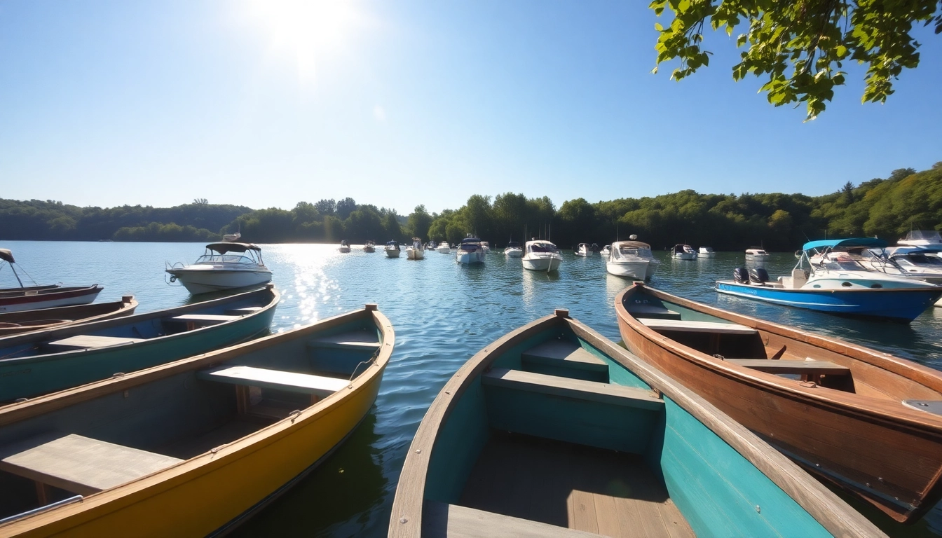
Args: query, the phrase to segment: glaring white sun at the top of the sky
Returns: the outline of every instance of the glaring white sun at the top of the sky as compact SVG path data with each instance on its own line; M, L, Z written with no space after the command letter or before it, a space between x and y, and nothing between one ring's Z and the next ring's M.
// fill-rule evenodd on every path
M317 62L344 44L358 14L344 0L249 0L249 16L273 50L297 57L301 82L314 82Z

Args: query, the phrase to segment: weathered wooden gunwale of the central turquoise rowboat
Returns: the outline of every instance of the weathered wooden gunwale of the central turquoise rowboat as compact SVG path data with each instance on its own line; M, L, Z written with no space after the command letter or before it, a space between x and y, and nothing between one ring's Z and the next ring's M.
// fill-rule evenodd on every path
M867 518L854 511L800 466L758 438L755 433L726 416L706 399L674 381L657 367L645 363L642 359L620 348L577 319L569 318L568 312L557 311L554 315L536 319L504 334L492 344L484 347L468 359L442 387L415 432L399 474L389 522L388 536L390 538L421 536L425 484L432 449L438 433L442 431L448 416L463 397L470 383L479 378L507 349L559 324L564 324L577 337L606 353L613 361L648 383L652 389L673 399L678 406L722 438L730 448L735 449L755 465L833 535L885 536Z

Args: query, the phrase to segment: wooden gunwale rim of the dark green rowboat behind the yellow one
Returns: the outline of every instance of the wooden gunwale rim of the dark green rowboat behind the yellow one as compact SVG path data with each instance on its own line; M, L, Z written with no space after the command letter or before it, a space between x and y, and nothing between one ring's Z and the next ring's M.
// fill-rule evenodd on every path
M184 337L187 335L200 334L201 332L207 332L207 330L211 330L211 329L219 329L220 327L228 327L240 321L244 321L246 319L255 318L257 316L264 315L266 312L268 312L268 310L275 308L276 306L278 306L278 303L281 302L281 292L278 291L275 285L269 283L265 285L265 287L261 287L259 289L253 289L252 291L246 291L246 292L238 293L238 294L227 296L227 297L222 297L219 299L213 299L210 301L194 302L192 304L185 304L183 306L174 306L173 308L167 308L164 310L154 310L152 312L145 312L143 314L132 314L130 316L122 316L120 318L100 319L97 321L93 320L93 321L82 322L82 323L70 323L63 327L57 326L57 327L50 327L48 329L42 329L39 331L30 331L28 333L10 334L8 336L0 336L0 347L17 346L17 345L29 343L30 341L49 340L51 339L51 337L55 337L55 338L68 337L68 336L73 336L76 334L82 334L83 332L86 332L86 331L97 331L100 329L108 329L117 325L127 324L130 318L135 318L134 322L147 321L154 318L172 318L176 315L184 314L193 310L203 310L203 308L207 308L207 307L211 308L214 306L219 306L220 304L225 304L227 302L238 302L238 301L247 299L249 295L252 295L252 294L263 295L265 292L271 293L271 299L268 301L268 304L263 306L260 310L256 310L252 312L251 314L246 314L245 316L240 316L236 319L223 321L215 325L206 325L204 327L199 327L191 331L184 331L182 333L164 334L162 336L154 336L153 338L144 338L143 341L140 341L140 342L127 342L127 343L118 344L115 346L108 346L106 348L84 348L84 349L79 349L79 350L57 351L55 353L42 353L39 355L27 355L24 357L9 357L5 359L0 359L0 365L16 364L17 362L27 363L27 362L41 362L41 361L47 361L47 360L57 360L60 357L69 356L70 354L87 353L87 352L102 351L102 350L114 350L114 349L119 349L126 346L140 346L142 344L148 344L148 343L153 343L153 342L166 342L166 341L171 341L173 339L179 339L180 337ZM52 336L53 333L59 333L59 334Z

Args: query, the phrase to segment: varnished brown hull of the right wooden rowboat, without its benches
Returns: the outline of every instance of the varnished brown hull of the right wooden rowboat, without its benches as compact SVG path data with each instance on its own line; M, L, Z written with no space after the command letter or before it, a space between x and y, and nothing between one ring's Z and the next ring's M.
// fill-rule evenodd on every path
M628 313L625 304L645 296L755 328L767 350L785 347L799 360L810 357L849 367L855 392L741 367L675 342ZM897 521L915 521L942 495L942 416L901 403L942 399L940 372L643 285L620 293L615 309L629 351L687 385L795 462Z

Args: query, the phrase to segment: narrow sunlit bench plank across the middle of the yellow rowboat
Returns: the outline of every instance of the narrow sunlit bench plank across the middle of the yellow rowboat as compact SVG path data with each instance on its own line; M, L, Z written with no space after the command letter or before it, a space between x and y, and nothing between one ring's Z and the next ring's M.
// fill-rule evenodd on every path
M196 373L196 377L204 381L313 394L320 398L326 398L349 385L345 379L256 367L218 367L201 370Z

